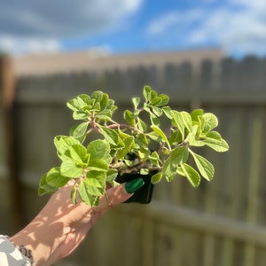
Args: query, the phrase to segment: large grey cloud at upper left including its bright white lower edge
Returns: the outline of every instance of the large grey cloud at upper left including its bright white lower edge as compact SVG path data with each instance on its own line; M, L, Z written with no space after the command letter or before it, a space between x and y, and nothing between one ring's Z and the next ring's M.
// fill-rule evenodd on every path
M121 27L143 0L0 0L0 51L54 51L59 39ZM20 44L19 44L20 43Z

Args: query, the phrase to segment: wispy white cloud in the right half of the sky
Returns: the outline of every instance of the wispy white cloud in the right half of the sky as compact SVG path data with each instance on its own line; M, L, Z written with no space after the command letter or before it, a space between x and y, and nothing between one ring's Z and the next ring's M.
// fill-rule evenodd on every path
M164 14L149 25L148 35L158 39L164 35L168 42L185 47L209 44L230 54L266 54L266 1L228 0L215 8L200 6Z

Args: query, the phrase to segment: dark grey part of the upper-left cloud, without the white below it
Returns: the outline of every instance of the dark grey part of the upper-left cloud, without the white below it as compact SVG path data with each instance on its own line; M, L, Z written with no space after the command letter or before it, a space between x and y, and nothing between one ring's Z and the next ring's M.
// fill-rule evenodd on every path
M113 27L142 0L0 0L0 33L66 37ZM4 23L3 23L4 22Z

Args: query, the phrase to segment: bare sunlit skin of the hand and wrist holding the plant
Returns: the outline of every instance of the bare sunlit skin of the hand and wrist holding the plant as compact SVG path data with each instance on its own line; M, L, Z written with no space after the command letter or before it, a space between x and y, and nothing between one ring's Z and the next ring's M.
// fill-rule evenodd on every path
M128 200L124 184L106 190L98 207L70 200L71 184L66 184L27 226L10 238L14 246L30 250L36 266L48 266L71 254L101 215ZM107 200L107 199L108 200Z

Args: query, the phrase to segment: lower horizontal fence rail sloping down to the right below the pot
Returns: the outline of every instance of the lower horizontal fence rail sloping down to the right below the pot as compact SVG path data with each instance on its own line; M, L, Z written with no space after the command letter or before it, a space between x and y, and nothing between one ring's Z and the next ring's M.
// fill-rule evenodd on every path
M123 211L127 212L126 209ZM155 200L143 211L150 215L151 219L161 223L252 243L254 246L266 247L266 228L258 224L202 213L191 208L174 206Z

